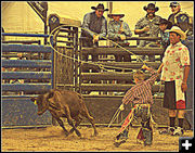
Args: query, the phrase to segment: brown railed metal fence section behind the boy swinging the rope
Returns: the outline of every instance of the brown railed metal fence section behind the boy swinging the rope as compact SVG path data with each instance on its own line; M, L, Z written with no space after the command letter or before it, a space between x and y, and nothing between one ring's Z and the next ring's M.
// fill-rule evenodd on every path
M86 38L80 38L80 41ZM159 38L138 38L138 37L131 37L127 40L157 40ZM129 50L135 55L158 55L160 56L165 49L159 47L146 47L146 48L138 48L136 46L129 46L125 47L125 49ZM79 89L82 95L84 97L84 101L87 103L88 109L92 113L92 115L95 117L95 122L99 124L105 124L107 125L112 118L112 116L115 114L116 110L121 104L121 100L128 89L134 86L133 84L133 72L135 69L139 69L142 67L142 62L136 62L135 59L132 59L129 62L116 62L115 58L110 59L108 56L115 56L117 54L120 55L130 55L129 52L126 50L119 48L119 47L108 47L108 46L102 46L98 48L89 48L89 47L82 47L79 50L79 59L82 59L83 55L99 55L99 61L93 62L90 59L88 59L90 63L80 63L80 73L79 73ZM101 58L105 56L105 58ZM157 69L158 66L161 64L160 58L156 58L155 62L147 62L148 66L153 66L153 68ZM107 67L106 67L107 66ZM105 72L103 68L106 68L107 72ZM120 71L116 72L116 68L114 67L121 67L127 68L129 71ZM82 69L89 69L89 72L83 72ZM96 73L92 73L90 69L95 69ZM150 74L146 74L146 78L150 77ZM95 82L96 81L96 82ZM118 82L119 81L119 82ZM123 81L123 82L122 82ZM128 81L128 82L127 82ZM158 85L159 77L156 81L156 84L153 86L152 92L155 99L155 105L154 105L154 112L158 111L156 113L156 116L166 114L165 109L161 107L162 102L162 95L156 95L156 93L164 92L164 85ZM119 92L122 94L115 94L115 92ZM120 122L122 122L123 117L126 117L129 113L129 110L131 106L127 105L126 111L121 114L120 117L118 117L118 120L116 120L116 125L118 125ZM166 119L166 117L164 117ZM161 117L156 117L157 123L159 124L167 124L165 119L161 119ZM160 120L161 119L161 120Z

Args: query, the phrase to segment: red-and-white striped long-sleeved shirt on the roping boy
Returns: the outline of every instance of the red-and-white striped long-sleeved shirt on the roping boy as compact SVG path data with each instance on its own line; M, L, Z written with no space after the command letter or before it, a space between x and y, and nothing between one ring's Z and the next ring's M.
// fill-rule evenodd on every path
M152 86L158 77L158 73L153 68L150 68L152 76L147 80L142 80L134 87L129 89L123 99L122 103L128 104L133 102L134 104L153 104Z

